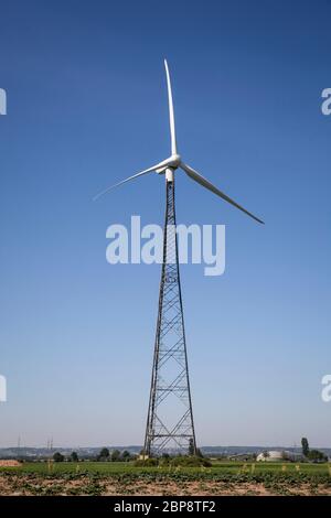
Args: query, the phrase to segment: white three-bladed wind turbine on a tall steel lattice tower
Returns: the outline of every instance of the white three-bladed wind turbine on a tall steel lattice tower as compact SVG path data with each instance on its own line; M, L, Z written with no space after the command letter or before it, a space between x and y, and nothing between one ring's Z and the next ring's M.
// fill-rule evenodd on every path
M168 86L171 155L162 162L107 187L94 197L94 201L96 201L114 187L145 174L166 174L167 203L163 263L143 449L147 456L159 454L169 449L170 445L179 451L186 449L191 453L196 452L175 234L174 172L178 169L182 170L194 182L237 207L256 222L264 223L188 165L178 153L171 80L167 60L164 60L164 66Z

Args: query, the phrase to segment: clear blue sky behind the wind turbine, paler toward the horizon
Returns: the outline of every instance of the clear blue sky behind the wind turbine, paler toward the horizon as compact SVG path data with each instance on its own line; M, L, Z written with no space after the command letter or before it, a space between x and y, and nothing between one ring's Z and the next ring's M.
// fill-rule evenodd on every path
M0 445L142 442L159 266L105 233L162 223L162 177L92 203L179 147L261 216L178 174L178 220L226 225L226 271L182 268L199 444L331 445L331 2L1 3Z

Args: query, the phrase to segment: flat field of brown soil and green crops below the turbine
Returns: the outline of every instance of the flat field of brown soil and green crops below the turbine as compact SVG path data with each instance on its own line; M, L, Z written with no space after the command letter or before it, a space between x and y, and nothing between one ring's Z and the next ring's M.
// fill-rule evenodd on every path
M141 467L132 462L31 462L0 467L0 495L328 495L330 464L214 462Z

